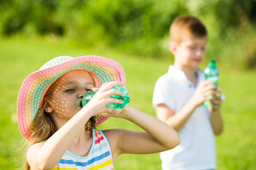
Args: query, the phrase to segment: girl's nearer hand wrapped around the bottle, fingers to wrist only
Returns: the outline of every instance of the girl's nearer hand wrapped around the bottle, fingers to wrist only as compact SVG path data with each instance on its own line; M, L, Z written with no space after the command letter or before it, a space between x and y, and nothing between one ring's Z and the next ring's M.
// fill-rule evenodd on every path
M123 104L123 101L116 98L111 98L112 95L124 96L122 92L116 89L112 89L113 86L123 86L124 84L118 81L104 83L100 88L94 87L93 91L97 91L91 100L83 107L83 109L90 110L92 116L110 116L118 117L119 110L113 110L106 105L108 103L119 103Z

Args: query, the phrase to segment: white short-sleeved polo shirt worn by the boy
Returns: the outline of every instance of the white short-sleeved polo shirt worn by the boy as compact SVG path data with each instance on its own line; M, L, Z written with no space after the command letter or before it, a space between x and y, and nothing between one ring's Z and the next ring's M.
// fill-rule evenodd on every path
M196 72L197 87L205 77L201 70ZM169 66L168 73L155 83L153 106L163 103L177 114L193 96L196 87L182 70ZM160 153L162 169L216 168L215 137L207 109L197 107L179 135L180 144L176 148Z

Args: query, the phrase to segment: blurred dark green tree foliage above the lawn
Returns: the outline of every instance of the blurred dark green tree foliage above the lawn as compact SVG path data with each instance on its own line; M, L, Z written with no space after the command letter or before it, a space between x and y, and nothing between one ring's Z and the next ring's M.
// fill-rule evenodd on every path
M185 14L197 16L207 26L210 54L221 51L224 42L241 38L244 43L244 35L255 35L255 0L2 0L0 32L52 33L87 46L104 43L137 55L158 56L168 51L172 20Z

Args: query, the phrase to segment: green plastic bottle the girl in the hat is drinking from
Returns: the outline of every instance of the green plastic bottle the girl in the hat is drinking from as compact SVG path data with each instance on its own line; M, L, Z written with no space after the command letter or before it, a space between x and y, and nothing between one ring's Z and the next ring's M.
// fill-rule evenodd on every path
M110 109L115 109L115 110L123 109L124 106L126 106L126 104L130 102L130 97L128 96L129 90L126 87L119 86L119 85L112 87L112 89L120 90L124 94L124 97L121 97L120 95L113 95L111 97L124 101L124 103L123 104L109 103L106 106ZM80 102L80 106L84 107L85 104L87 104L91 100L94 94L96 94L96 92L94 91L87 92L87 94L84 95L82 101Z

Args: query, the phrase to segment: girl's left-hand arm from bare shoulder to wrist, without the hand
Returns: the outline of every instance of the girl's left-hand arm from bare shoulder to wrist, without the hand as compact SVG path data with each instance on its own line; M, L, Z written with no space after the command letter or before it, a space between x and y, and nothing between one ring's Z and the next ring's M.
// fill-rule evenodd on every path
M27 151L31 169L53 169L90 117L90 114L80 110L44 144L32 145Z

